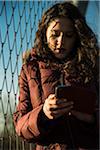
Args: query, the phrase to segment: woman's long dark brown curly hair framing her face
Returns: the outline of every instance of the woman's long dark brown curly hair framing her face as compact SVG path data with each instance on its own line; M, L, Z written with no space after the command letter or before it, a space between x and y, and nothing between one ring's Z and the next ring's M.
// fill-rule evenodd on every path
M66 71L74 74L76 68L77 75L89 82L94 78L94 72L97 66L98 46L97 39L91 28L87 25L85 18L80 13L79 9L70 2L57 3L49 8L42 16L36 32L34 48L39 57L51 64L54 59L46 41L46 30L49 23L59 17L66 17L74 23L78 34L77 52L75 53L70 63L65 63Z

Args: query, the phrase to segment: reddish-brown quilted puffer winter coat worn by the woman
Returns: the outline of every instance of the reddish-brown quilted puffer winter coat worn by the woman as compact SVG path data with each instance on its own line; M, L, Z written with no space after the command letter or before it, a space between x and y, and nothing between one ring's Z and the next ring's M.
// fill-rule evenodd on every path
M57 78L49 80L52 73ZM72 115L49 120L44 114L45 99L60 84L58 74L57 70L35 57L23 64L19 78L19 103L14 113L17 134L28 142L36 143L36 150L96 149L98 137L94 123L80 121ZM66 75L65 84L77 83ZM93 85L88 85L88 88L91 87L95 90Z

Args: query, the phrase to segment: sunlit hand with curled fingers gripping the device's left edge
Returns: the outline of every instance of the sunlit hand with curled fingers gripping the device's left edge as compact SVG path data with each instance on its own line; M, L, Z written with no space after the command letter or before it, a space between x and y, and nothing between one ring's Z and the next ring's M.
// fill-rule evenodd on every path
M45 100L43 111L49 119L56 119L68 114L73 108L73 102L67 99L57 99L55 94L50 94Z

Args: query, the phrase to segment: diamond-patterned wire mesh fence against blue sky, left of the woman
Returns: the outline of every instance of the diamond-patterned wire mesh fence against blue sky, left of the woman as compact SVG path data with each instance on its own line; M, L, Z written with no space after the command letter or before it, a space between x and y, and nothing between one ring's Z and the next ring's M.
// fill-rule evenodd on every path
M35 149L15 134L12 114L18 102L22 53L33 46L41 15L56 2L0 1L0 150Z

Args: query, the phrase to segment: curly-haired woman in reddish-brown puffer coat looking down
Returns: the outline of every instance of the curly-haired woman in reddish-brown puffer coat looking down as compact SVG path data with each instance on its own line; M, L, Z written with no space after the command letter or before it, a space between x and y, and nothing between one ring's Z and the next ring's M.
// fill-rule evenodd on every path
M48 9L21 69L17 134L37 150L97 149L96 109L77 111L73 100L55 95L61 84L96 91L97 57L95 35L77 7L64 2Z

